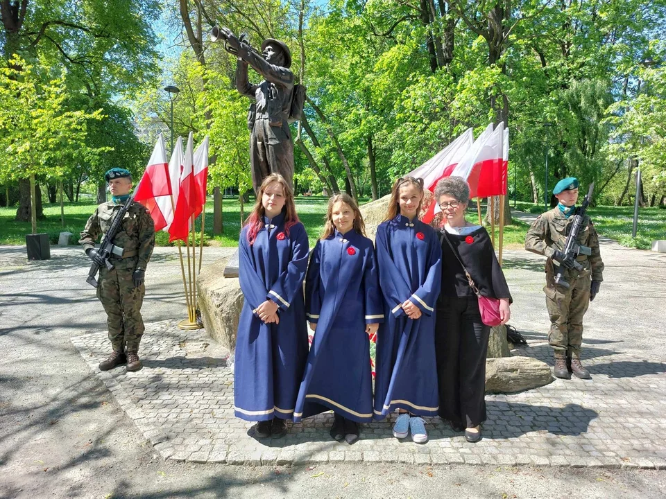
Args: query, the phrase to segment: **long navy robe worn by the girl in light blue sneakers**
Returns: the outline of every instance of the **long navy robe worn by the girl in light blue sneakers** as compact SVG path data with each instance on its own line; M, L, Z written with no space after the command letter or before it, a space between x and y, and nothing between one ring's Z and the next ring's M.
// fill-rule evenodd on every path
M435 358L435 302L442 249L432 227L398 215L377 227L379 284L388 319L379 326L375 356L375 419L395 408L435 416L439 407ZM400 308L409 299L421 317Z

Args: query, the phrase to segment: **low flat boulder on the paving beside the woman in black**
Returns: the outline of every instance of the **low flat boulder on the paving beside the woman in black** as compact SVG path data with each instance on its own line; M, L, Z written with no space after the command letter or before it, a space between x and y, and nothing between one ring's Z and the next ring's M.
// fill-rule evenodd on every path
M531 357L486 360L486 393L515 393L542 387L554 380L545 362Z

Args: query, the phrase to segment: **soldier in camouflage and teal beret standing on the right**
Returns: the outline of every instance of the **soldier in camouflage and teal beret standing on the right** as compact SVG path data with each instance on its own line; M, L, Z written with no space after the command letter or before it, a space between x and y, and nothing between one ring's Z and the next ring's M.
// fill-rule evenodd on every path
M543 288L551 322L548 342L554 349L555 376L565 379L570 378L570 372L578 378L590 377L590 372L581 364L583 315L604 280L599 237L589 216L583 218L578 243L589 247L591 254L579 254L575 257L583 270L575 270L574 257L563 253L573 222L572 215L576 209L578 186L578 180L574 177L558 182L553 189L558 205L534 220L525 236L525 249L548 257L545 268L546 286ZM570 284L570 288L555 284L557 265L565 266L563 277Z

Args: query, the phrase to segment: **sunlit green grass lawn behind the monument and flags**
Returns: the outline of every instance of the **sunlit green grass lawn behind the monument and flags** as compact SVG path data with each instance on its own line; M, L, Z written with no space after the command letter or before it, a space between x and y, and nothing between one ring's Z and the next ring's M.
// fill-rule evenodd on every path
M362 203L361 203L362 204ZM244 206L245 216L254 205L254 200ZM321 197L296 198L296 210L300 220L307 229L307 235L314 245L314 241L321 235L326 213L327 199ZM513 202L511 202L513 208ZM543 204L518 202L520 211L529 213L542 213ZM37 231L49 234L51 243L58 243L61 231L69 231L78 240L78 234L85 226L85 222L95 209L94 202L65 203L65 227L60 224L60 205L44 204L45 220L37 220ZM485 207L482 207L485 211ZM234 247L238 244L238 236L241 230L240 204L237 198L225 198L223 200L223 225L224 233L221 236L213 236L213 202L212 197L206 204L205 233L207 244ZM589 210L592 220L595 222L597 231L604 237L616 240L627 247L650 249L654 239L666 238L666 210L658 208L642 208L638 218L638 236L631 237L633 224L632 207L595 207ZM17 222L14 220L15 208L0 208L0 244L1 245L25 245L26 234L30 234L30 222ZM470 206L467 215L470 222L477 223L476 207ZM524 244L525 233L529 225L514 218L512 225L504 227L504 247L507 249L518 249ZM200 218L196 221L197 234L200 233ZM489 227L488 227L489 229ZM499 237L499 230L495 227L495 238ZM168 245L169 234L160 231L156 237L157 245ZM198 238L197 238L198 241Z

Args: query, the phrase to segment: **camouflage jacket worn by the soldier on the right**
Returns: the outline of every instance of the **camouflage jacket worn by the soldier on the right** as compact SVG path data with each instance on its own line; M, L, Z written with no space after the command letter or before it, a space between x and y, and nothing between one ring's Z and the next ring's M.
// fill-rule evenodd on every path
M552 259L553 253L556 249L564 250L567 234L571 231L573 222L573 216L566 218L560 209L555 207L538 216L527 231L525 249L548 257L545 272L555 273L557 263L554 263ZM589 247L592 254L577 256L576 260L583 265L583 270L579 272L574 269L565 269L565 278L576 279L592 274L593 281L603 281L604 262L601 261L599 252L599 236L588 215L583 217L577 241L579 245Z

